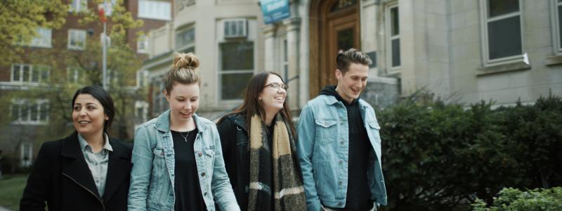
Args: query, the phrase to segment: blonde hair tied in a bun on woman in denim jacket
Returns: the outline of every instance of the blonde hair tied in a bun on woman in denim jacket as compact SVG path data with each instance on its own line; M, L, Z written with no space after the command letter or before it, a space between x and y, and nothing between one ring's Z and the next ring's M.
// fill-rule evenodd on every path
M176 53L174 57L174 68L166 74L164 89L171 92L174 83L199 84L201 87L201 75L199 74L199 59L193 53Z

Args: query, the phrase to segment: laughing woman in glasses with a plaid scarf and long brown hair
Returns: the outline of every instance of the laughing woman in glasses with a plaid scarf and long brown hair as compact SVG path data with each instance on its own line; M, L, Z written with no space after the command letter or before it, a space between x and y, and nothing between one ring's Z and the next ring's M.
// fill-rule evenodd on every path
M243 210L306 210L287 88L275 72L254 75L242 106L217 123Z

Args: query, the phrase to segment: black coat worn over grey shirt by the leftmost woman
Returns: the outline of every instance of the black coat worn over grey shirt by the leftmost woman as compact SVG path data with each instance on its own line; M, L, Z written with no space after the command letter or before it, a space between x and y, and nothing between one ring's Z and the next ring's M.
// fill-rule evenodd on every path
M20 201L20 210L126 210L131 146L110 138L103 198L80 150L78 134L43 143Z

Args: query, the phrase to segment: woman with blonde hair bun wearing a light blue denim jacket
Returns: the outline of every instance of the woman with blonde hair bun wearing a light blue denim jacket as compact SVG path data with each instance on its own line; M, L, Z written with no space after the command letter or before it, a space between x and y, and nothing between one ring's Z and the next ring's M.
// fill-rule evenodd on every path
M170 109L136 129L129 210L240 210L216 126L195 114L198 67L193 53L176 55L164 81Z

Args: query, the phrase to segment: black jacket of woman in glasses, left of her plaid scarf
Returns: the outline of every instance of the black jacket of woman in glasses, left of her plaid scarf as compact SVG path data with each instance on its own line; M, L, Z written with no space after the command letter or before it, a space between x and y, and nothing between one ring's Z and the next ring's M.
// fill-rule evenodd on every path
M245 116L240 113L223 117L217 124L221 136L226 172L241 210L248 209L249 148Z

